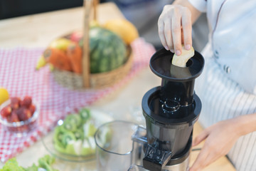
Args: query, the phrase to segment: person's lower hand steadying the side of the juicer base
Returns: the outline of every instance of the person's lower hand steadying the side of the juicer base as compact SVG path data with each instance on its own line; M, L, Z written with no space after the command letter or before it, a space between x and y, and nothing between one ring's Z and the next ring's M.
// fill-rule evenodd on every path
M206 142L189 171L202 170L219 157L227 155L240 136L236 118L220 121L203 130L193 140L192 146L198 145L203 140L206 140Z

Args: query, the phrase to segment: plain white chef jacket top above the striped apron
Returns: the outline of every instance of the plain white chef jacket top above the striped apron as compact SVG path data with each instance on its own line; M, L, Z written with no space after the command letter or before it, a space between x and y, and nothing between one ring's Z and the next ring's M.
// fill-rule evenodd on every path
M216 61L233 81L256 95L256 1L189 0L206 12Z

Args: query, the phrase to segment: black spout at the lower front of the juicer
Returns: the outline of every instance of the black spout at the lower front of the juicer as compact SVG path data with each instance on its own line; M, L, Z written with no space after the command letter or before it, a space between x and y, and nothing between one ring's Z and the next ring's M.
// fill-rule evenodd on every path
M145 157L143 158L143 167L147 170L160 171L172 157L172 152L160 150L158 147L146 146Z

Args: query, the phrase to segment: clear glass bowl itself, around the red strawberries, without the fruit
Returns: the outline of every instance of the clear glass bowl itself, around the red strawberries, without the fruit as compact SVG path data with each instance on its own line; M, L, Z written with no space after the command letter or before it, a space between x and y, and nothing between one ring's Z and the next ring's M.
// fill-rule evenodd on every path
M11 100L6 100L6 102L0 105L0 111L11 104ZM33 113L32 117L28 120L23 120L20 122L9 122L6 118L3 118L0 115L0 123L2 128L9 133L14 133L16 136L21 137L27 135L31 130L35 130L38 125L38 115L39 115L39 105L33 100L33 104L36 106L36 110Z

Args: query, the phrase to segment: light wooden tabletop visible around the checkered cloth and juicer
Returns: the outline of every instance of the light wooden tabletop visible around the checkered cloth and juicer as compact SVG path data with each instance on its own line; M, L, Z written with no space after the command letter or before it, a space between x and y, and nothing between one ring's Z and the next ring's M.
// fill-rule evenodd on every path
M82 7L79 7L1 20L0 48L14 48L16 46L29 48L46 47L54 38L82 29L82 16ZM117 9L117 6L112 3L100 4L97 16L100 23L104 23L107 19L124 17L121 11ZM149 68L146 68L122 90L98 101L90 106L90 108L110 112L116 119L137 121L129 115L129 111L134 106L140 106L142 97L147 90L160 84L160 78L151 73ZM194 126L194 137L201 130L201 126L196 123ZM198 147L202 147L202 145L203 143L198 145ZM22 166L26 167L32 165L33 162L37 163L38 158L45 154L48 154L48 152L43 147L42 142L38 141L17 155L16 158ZM191 152L191 164L196 160L197 155L198 151ZM61 161L58 163L60 164ZM2 165L4 164L1 163L0 167ZM87 170L93 170L93 168ZM233 171L235 169L226 157L221 157L204 170Z

